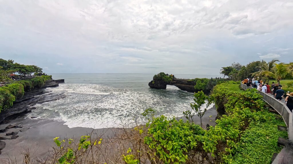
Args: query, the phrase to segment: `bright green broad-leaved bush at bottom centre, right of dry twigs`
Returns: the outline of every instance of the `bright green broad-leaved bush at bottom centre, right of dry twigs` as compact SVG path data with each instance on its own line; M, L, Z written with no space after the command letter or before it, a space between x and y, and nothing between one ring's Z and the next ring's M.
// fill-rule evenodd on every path
M185 163L188 152L197 146L197 141L203 134L199 125L165 116L154 118L148 125L149 135L144 138L144 143L163 163Z

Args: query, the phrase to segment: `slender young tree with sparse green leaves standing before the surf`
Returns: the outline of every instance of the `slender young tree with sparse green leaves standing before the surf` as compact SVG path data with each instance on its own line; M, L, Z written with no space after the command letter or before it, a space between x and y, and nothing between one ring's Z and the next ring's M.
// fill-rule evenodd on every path
M185 116L188 120L191 119L193 122L193 116L197 114L200 118L200 126L202 127L202 117L207 111L207 108L210 104L212 104L212 99L205 95L202 91L195 93L194 95L194 103L190 103L190 107L192 110L187 110L183 112L183 116ZM205 100L207 100L207 104L205 105Z

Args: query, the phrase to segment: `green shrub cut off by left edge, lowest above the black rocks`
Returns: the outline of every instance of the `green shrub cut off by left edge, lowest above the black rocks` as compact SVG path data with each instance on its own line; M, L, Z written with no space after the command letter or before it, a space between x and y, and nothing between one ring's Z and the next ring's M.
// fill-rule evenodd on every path
M13 96L7 87L0 87L0 112L4 109L10 108L15 101Z

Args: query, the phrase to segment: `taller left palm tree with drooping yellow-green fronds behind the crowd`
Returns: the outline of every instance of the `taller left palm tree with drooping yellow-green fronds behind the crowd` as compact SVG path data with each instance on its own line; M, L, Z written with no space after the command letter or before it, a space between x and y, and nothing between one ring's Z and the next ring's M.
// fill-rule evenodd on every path
M264 76L264 77L267 77L268 79L270 79L270 77L272 77L272 76L269 76L268 72L272 73L272 71L274 70L274 67L276 65L276 62L280 62L280 61L277 59L273 59L268 63L266 61L262 61L260 66L257 67L260 70L257 72L254 72L252 74L252 76L260 76L260 77Z

